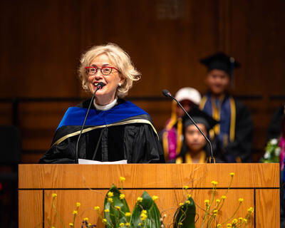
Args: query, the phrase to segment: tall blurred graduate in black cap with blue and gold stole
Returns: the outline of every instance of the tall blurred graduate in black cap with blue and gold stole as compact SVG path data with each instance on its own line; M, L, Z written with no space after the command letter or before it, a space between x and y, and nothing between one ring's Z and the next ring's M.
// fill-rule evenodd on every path
M218 137L218 147L222 148L220 157L227 162L251 162L252 116L246 105L228 93L232 73L239 63L224 53L216 53L200 62L207 66L208 92L199 108L219 121L214 134Z

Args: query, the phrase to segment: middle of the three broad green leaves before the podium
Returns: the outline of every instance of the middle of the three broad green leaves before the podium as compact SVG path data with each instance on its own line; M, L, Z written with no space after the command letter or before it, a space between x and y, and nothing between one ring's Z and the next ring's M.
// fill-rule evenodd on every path
M138 228L140 223L143 224L144 228L157 228L161 226L160 222L160 210L157 208L155 201L150 197L147 192L142 193L142 202L137 202L132 213L132 222L130 227ZM147 211L147 218L142 222L140 214L142 209Z

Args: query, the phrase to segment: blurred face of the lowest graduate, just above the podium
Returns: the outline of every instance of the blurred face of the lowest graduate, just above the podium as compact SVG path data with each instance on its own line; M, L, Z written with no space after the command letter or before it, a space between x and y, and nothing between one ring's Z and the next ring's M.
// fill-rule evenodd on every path
M205 128L204 124L197 123L197 126L205 135L207 135L207 129ZM206 140L194 124L187 126L185 130L185 140L187 147L189 147L189 149L193 152L202 150L202 148L206 145Z

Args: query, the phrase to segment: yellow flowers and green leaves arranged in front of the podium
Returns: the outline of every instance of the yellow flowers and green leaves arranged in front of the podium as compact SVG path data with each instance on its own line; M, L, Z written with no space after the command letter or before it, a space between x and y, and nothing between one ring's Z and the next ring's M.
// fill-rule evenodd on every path
M224 205L224 201L227 199L227 193L232 185L232 180L234 177L234 172L230 174L231 180L229 183L229 187L222 197L219 199L214 199L217 191L217 181L212 181L212 195L209 199L204 200L204 216L202 217L202 227L213 227L213 228L222 228L222 227L247 227L248 220L252 217L254 209L249 207L247 210L247 214L244 218L234 218L235 214L241 207L244 199L239 198L239 205L235 210L234 214L229 217L224 222L218 222L217 215L221 213L222 207ZM125 181L125 177L120 177L120 189L123 191L123 182ZM176 209L176 212L173 217L173 222L168 227L174 228L195 228L195 216L196 216L196 206L195 202L190 195L189 186L182 187L183 192L185 192L185 201L179 204L179 207ZM58 211L56 210L55 201L57 195L53 193L52 195L52 207L58 219L60 220L63 227L66 228L63 220L61 219ZM94 210L98 213L98 217L101 219L105 228L164 228L164 218L166 215L161 215L160 210L158 209L155 201L158 199L156 195L152 197L147 193L143 192L140 197L137 198L135 207L133 212L130 212L128 207L128 203L125 200L125 195L118 190L115 185L110 187L107 194L105 195L104 200L104 209L103 215L100 214L100 207L95 206ZM73 211L73 221L69 223L69 227L73 228L76 216L78 214L78 209L81 204L79 202L76 203L76 209ZM197 221L196 221L197 222ZM48 223L51 228L55 228L51 222L51 219L48 217ZM97 227L96 224L92 224L88 222L88 218L84 218L81 224L81 228L83 227Z

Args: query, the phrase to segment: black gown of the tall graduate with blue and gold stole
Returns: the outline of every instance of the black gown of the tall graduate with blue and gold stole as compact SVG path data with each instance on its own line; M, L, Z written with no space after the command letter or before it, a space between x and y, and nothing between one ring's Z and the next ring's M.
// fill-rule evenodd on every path
M225 162L252 162L252 115L244 103L235 98L233 99L236 117L234 140L229 141L225 147L223 145L214 145L219 150L216 156Z

